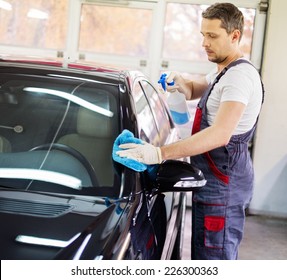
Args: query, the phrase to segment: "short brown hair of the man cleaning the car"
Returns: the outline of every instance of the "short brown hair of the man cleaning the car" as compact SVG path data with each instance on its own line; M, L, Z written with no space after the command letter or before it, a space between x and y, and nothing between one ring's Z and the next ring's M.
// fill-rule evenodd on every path
M209 6L203 13L205 19L219 19L221 27L224 28L227 34L230 34L235 29L240 31L241 40L244 27L244 17L242 12L231 3L215 3Z

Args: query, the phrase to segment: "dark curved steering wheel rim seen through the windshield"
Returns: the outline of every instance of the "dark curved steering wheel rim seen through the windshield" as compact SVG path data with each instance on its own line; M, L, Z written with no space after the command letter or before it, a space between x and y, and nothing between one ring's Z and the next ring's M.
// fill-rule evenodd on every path
M48 143L48 144L43 144L43 145L39 145L36 146L32 149L30 149L29 151L37 151L37 150L59 150L62 152L65 152L67 154L70 154L71 156L73 156L74 158L76 158L78 161L80 161L82 163L82 165L85 167L85 169L87 170L92 185L93 186L98 186L99 182L96 176L96 172L94 167L92 166L92 164L77 150L75 150L74 148L64 145L64 144L59 144L59 143Z

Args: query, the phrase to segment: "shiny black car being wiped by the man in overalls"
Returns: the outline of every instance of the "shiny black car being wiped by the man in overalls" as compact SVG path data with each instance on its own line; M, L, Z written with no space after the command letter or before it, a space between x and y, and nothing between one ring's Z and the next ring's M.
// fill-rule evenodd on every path
M179 259L186 191L201 171L113 161L127 129L178 140L165 102L139 72L0 61L0 258Z

